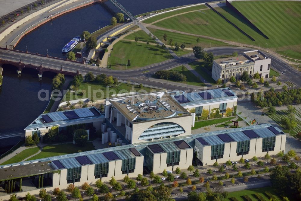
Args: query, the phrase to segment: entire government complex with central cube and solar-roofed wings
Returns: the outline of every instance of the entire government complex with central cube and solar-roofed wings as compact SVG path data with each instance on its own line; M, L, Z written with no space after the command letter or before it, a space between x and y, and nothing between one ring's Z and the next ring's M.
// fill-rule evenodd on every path
M212 165L284 151L286 135L270 124L191 134L196 120L235 115L236 105L230 88L218 88L118 94L106 100L104 114L95 107L41 114L25 128L26 136L37 132L43 138L53 126L60 131L89 124L101 130L100 143L118 146L1 165L0 199L12 193L38 194L41 188L65 189L70 183L105 182L112 176L120 180L150 171L186 170L196 156L202 165Z

